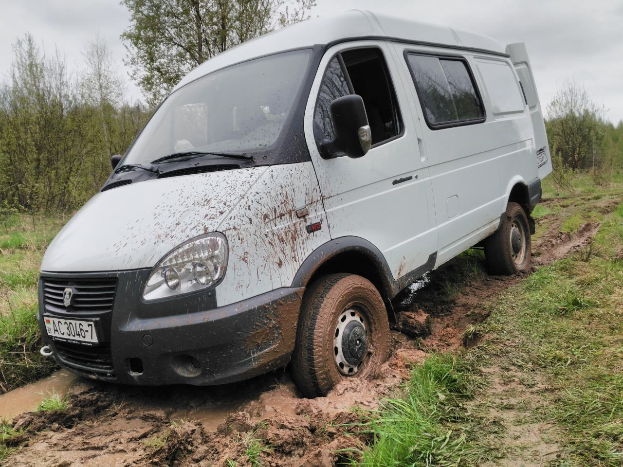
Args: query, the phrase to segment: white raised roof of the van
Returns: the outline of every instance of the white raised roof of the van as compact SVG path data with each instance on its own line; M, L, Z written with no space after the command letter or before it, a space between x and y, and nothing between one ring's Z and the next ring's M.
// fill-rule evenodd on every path
M453 49L476 49L506 55L496 40L447 26L412 21L371 11L349 10L302 21L232 47L194 68L175 89L229 65L284 50L365 38L389 38Z

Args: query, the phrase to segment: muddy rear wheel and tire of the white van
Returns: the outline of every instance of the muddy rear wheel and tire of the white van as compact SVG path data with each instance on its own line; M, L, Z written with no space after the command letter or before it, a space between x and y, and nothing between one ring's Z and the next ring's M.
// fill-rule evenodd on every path
M525 210L510 202L502 225L485 240L485 257L490 273L511 275L530 268L530 224Z

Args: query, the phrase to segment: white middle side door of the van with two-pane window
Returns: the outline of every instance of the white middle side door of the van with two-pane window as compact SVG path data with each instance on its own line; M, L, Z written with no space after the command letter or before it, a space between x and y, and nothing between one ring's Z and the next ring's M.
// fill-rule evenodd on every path
M419 103L439 233L440 265L495 231L503 210L497 146L462 54L396 45Z

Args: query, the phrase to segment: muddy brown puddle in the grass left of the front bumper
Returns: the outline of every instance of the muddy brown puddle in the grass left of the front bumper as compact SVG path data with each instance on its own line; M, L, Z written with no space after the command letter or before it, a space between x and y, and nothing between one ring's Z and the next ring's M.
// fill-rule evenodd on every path
M69 390L80 382L80 378L66 370L59 370L49 377L18 387L6 394L0 395L0 419L11 420L22 412L32 412L39 402L52 391L65 395Z

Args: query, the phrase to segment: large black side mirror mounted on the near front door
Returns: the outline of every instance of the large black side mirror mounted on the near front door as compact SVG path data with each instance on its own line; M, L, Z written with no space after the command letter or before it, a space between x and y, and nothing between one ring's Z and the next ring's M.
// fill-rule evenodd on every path
M322 144L323 157L335 158L343 151L350 158L360 158L368 153L372 144L372 131L363 99L356 94L338 97L331 102L331 116L335 138Z

